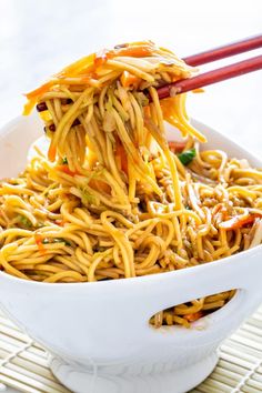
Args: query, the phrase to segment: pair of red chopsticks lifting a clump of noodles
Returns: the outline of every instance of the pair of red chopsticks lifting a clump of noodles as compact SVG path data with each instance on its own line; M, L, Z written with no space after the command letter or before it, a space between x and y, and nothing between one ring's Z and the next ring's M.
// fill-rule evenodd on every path
M183 60L189 66L201 66L212 61L229 58L234 54L249 52L262 48L262 36L246 38L223 47L193 54ZM236 62L234 64L218 68L216 70L201 73L200 75L179 80L158 89L160 99L173 97L174 94L185 93L187 91L203 88L209 84L218 83L226 79L243 75L249 72L262 69L262 56Z

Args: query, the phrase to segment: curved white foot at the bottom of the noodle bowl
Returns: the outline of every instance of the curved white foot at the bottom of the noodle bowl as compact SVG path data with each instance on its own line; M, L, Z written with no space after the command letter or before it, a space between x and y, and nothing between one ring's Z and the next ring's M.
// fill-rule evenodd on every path
M74 393L184 393L201 383L214 369L218 354L213 352L185 369L149 375L102 375L83 372L50 359L53 374Z

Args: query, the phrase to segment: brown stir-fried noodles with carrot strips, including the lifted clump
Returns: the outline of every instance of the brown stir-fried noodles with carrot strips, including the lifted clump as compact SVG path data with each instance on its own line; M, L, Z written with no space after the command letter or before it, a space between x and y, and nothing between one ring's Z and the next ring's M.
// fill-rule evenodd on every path
M0 266L26 280L87 282L170 272L262 241L262 172L189 122L185 94L157 88L194 69L151 41L80 59L27 94L50 138L0 184ZM165 122L183 142L168 143ZM154 326L191 322L234 291L162 311Z

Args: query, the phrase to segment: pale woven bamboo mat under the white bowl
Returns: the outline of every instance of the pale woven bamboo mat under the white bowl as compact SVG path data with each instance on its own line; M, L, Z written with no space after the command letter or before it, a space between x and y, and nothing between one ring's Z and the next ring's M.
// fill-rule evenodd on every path
M69 393L51 374L48 354L0 312L0 391ZM262 392L262 308L220 349L213 373L191 393Z

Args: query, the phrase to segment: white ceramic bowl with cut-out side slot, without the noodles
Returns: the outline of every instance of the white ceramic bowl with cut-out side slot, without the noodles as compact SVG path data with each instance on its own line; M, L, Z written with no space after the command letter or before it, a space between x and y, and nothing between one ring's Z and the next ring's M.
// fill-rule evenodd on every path
M208 145L262 167L228 138L194 124ZM28 149L41 134L34 115L2 129L0 178L24 168ZM0 272L0 305L50 351L53 373L74 392L182 393L208 376L221 341L262 301L261 256L260 245L185 270L81 284L29 282ZM160 310L231 289L236 295L190 330L149 325Z

